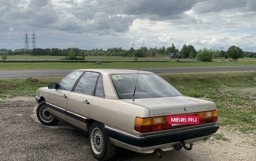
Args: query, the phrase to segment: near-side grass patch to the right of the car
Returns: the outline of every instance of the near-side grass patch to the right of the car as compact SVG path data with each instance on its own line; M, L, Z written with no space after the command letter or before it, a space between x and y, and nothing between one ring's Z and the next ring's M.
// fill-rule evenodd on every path
M256 72L182 73L161 75L182 94L216 103L221 126L256 131Z

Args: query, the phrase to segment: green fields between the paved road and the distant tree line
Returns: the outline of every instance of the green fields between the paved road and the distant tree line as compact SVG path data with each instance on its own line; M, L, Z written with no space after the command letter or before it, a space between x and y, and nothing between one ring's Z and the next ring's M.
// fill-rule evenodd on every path
M63 56L8 56L8 59L44 59L58 60ZM168 61L168 62L121 62L134 61L134 57L104 57L88 56L86 60L120 61L120 62L0 62L0 70L58 70L79 68L158 68L158 67L197 67L197 66L256 66L256 58L243 58L236 62L223 62L225 59L214 59L213 62L195 62L195 59L138 58L138 61Z

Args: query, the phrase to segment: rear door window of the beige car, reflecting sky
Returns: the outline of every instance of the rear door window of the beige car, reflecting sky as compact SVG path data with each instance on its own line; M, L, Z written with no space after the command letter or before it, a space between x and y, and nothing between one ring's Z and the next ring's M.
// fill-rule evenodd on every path
M98 80L99 73L85 72L76 85L74 92L87 95L94 95L95 85Z

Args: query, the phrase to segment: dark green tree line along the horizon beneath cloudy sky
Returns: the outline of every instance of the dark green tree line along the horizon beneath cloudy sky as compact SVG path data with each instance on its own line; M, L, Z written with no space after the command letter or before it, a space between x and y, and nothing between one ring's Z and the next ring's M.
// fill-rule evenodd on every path
M79 48L35 48L31 50L26 49L0 49L0 53L3 55L15 55L15 54L31 54L33 56L65 56L67 59L76 59L76 57L81 57L79 59L84 59L85 56L119 56L119 57L151 57L151 58L161 58L161 57L170 57L171 54L179 54L178 58L196 58L199 61L212 61L212 58L232 58L238 59L246 57L256 57L255 54L244 54L243 50L236 46L231 46L227 51L219 49L201 49L196 51L193 45L184 44L181 50L178 50L174 44L170 47L155 47L147 48L141 47L139 49L122 49L122 48L108 48L107 50L103 49L92 49L92 50L83 50ZM71 54L71 56L70 56ZM7 57L4 57L7 58Z

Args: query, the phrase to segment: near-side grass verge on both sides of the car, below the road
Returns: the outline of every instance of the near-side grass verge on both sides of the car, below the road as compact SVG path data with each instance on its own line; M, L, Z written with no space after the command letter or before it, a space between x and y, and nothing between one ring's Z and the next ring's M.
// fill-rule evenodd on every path
M256 132L256 72L161 74L183 95L211 100L219 111L218 124L244 133ZM36 90L61 77L0 79L0 100L35 96ZM216 136L222 139L222 136Z

